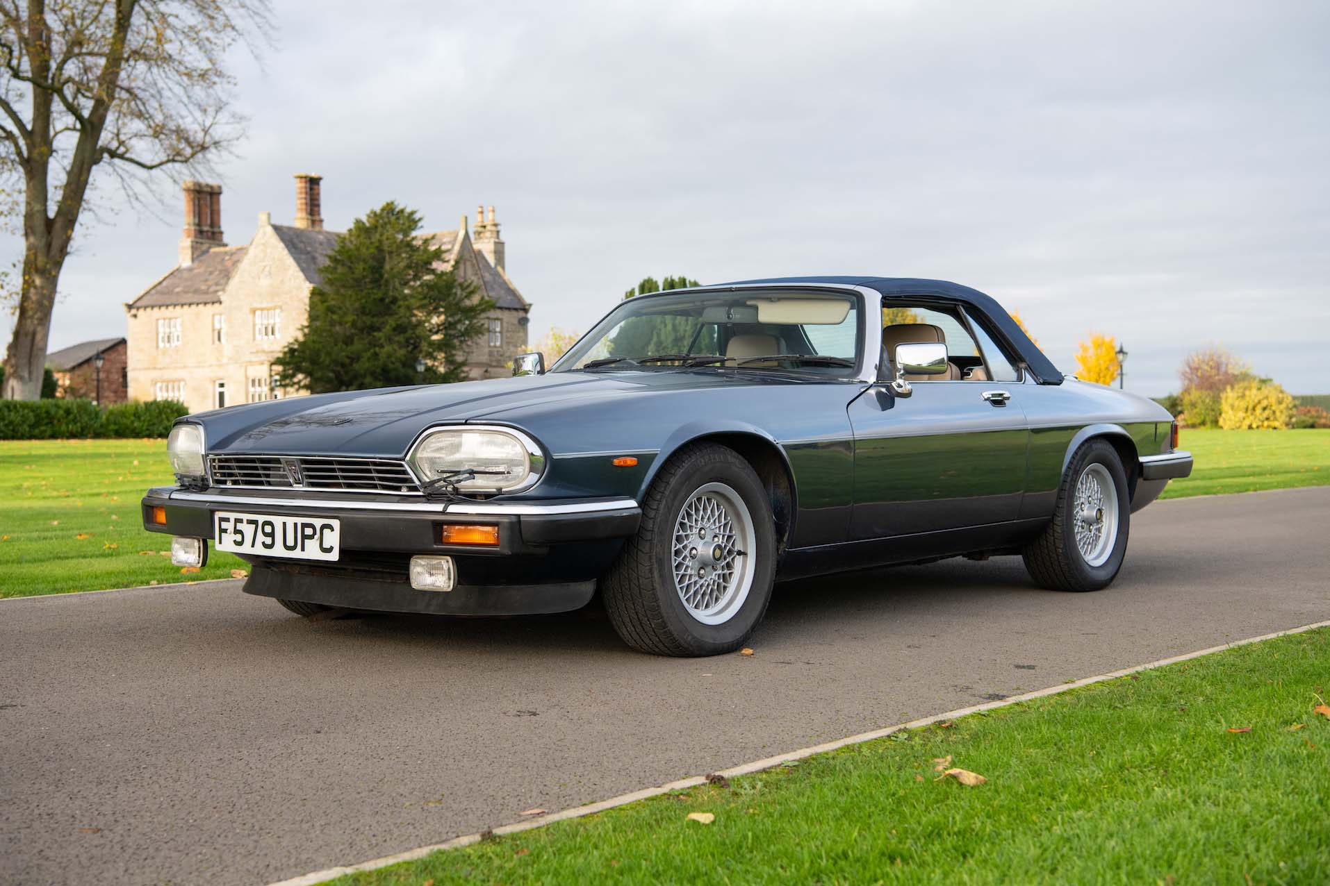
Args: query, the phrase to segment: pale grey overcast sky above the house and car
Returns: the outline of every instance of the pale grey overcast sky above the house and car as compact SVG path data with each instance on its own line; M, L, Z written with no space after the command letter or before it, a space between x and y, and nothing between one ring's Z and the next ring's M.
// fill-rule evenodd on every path
M1067 372L1116 335L1140 393L1208 343L1330 392L1323 0L275 5L214 175L231 244L310 171L336 230L493 203L533 340L644 275L927 276ZM80 227L52 349L124 333L180 203Z

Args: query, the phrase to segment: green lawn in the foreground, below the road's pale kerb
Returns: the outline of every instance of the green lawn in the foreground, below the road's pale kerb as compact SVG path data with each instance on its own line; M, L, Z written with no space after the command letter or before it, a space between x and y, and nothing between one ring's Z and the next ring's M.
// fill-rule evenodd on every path
M1325 687L1321 630L334 882L1326 883Z

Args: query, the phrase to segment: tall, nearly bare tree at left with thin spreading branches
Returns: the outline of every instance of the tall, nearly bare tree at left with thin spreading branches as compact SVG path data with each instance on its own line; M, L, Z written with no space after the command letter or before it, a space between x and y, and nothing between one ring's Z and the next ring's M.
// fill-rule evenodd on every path
M130 195L233 143L227 52L269 0L0 0L0 186L21 190L23 263L3 397L36 400L60 271L93 174ZM21 189L19 185L21 183Z

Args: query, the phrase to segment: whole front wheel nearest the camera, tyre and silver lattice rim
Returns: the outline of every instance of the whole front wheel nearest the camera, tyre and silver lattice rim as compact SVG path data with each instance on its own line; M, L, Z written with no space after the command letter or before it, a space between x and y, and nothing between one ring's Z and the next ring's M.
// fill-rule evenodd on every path
M656 655L732 652L771 599L775 523L738 453L690 445L661 468L642 521L601 582L624 642Z

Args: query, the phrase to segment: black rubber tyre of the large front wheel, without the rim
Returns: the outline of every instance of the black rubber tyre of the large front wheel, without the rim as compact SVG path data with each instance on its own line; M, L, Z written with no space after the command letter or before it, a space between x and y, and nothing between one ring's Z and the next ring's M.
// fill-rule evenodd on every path
M754 550L745 553L754 558L747 596L718 624L698 620L684 604L672 559L680 511L708 484L722 484L738 494L755 542L750 545ZM642 501L637 534L624 545L600 587L610 623L634 650L701 656L743 646L766 612L774 578L775 521L762 481L733 449L693 444L674 453L656 476Z

